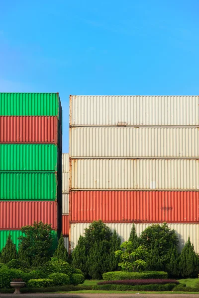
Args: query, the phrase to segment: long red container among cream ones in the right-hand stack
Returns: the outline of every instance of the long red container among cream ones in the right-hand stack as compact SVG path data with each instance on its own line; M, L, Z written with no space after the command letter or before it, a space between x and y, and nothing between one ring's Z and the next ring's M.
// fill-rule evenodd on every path
M199 192L71 192L71 222L197 222Z

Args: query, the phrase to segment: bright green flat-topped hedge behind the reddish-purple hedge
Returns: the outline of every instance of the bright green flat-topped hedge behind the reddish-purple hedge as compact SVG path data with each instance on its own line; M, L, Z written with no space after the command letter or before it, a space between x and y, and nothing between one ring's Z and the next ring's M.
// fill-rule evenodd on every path
M104 281L120 281L130 279L167 279L168 273L164 271L126 272L113 271L102 274Z

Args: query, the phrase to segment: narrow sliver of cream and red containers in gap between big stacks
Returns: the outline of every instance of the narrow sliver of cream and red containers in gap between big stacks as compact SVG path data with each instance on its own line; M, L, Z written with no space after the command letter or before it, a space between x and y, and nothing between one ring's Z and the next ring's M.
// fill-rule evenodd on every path
M69 249L69 153L62 154L62 233Z

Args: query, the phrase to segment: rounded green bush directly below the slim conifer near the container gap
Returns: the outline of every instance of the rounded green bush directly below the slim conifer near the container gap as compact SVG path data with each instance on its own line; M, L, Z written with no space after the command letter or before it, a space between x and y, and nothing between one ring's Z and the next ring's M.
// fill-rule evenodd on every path
M62 261L57 258L52 258L50 261L46 262L43 267L42 271L49 275L51 273L65 273L67 275L72 274L72 267L69 265L68 262Z

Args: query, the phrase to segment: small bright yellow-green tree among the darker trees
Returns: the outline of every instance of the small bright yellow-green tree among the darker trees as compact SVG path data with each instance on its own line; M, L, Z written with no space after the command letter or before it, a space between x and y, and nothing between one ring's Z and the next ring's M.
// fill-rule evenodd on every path
M136 272L146 268L145 261L148 252L143 246L134 249L131 241L125 241L120 245L122 250L115 251L115 255L120 257L118 266L124 271Z

